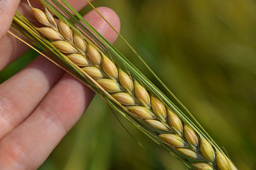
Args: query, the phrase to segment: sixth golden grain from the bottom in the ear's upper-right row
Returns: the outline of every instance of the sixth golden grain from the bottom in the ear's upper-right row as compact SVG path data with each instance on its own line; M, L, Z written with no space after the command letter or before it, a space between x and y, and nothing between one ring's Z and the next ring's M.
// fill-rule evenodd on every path
M134 92L138 100L147 108L150 108L150 97L147 90L137 81L134 82Z

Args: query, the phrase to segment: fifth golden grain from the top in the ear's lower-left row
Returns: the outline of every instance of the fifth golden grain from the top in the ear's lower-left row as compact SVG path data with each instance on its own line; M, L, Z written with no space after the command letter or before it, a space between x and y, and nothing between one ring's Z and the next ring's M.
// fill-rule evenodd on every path
M99 83L99 85L108 92L120 92L121 90L118 83L110 79L100 79L97 80L97 83Z

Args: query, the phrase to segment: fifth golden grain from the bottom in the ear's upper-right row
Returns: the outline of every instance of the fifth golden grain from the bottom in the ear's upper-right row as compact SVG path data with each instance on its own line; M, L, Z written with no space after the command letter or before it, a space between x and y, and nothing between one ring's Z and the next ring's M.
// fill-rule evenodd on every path
M163 121L166 119L166 109L163 103L154 96L151 96L151 106L156 115Z

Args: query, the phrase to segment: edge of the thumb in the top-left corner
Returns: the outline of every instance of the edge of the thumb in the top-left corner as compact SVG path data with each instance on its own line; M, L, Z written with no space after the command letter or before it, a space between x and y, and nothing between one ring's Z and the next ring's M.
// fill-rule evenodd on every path
M12 24L12 18L19 6L20 0L0 0L0 39L6 34L10 25Z

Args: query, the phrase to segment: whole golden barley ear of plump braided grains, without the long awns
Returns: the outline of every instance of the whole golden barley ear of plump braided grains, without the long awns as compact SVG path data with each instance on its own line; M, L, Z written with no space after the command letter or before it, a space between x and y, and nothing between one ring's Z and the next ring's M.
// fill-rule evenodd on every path
M36 28L42 36L97 81L130 114L160 130L159 140L179 152L195 169L236 169L226 155L182 122L159 97L150 94L81 34L73 32L63 20L57 25L46 8L45 13L33 7L31 10L38 22L46 26Z

